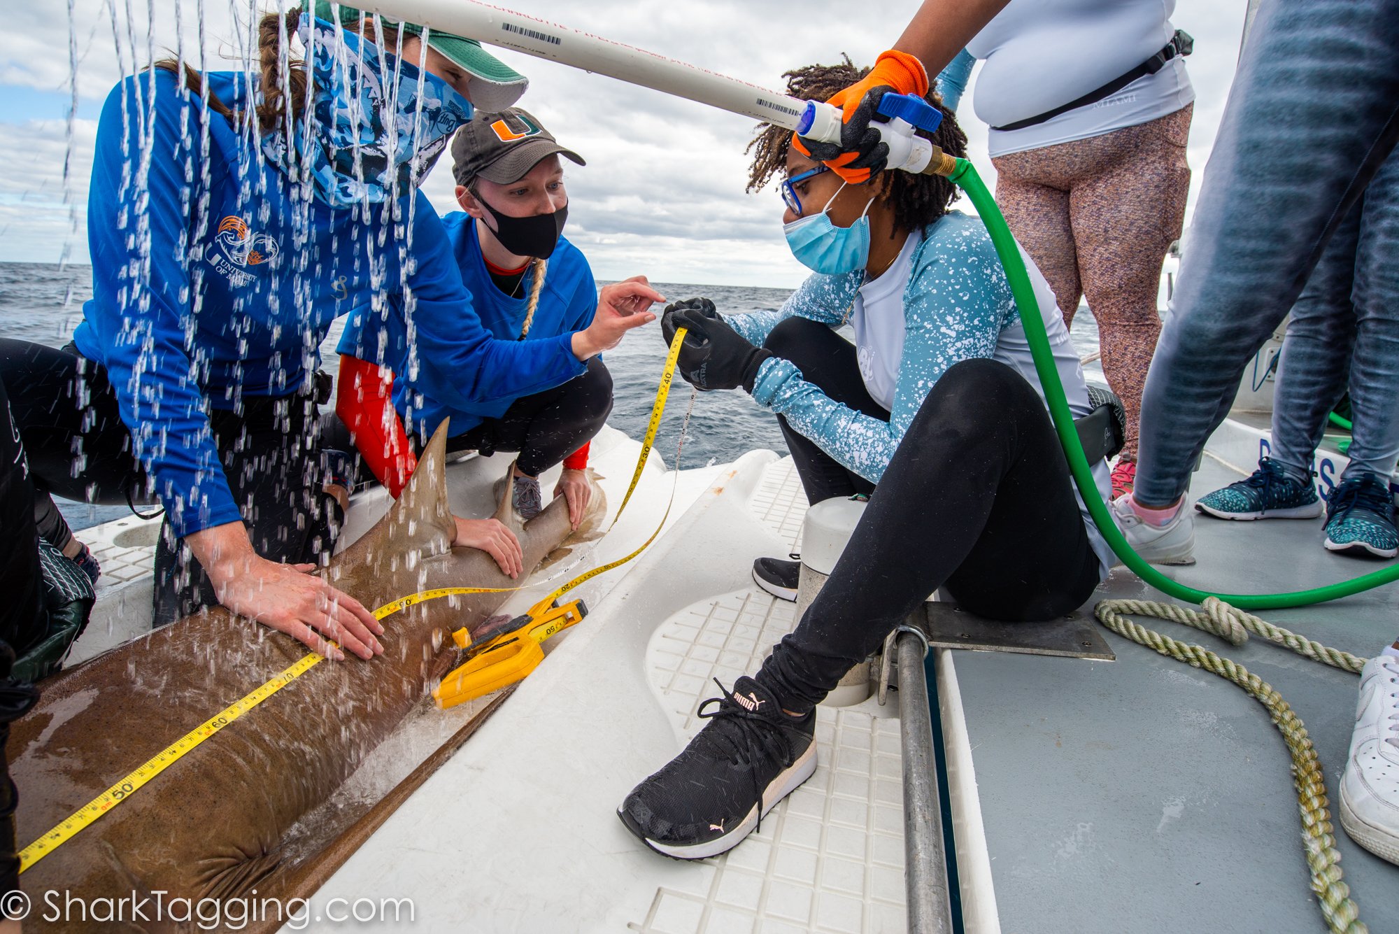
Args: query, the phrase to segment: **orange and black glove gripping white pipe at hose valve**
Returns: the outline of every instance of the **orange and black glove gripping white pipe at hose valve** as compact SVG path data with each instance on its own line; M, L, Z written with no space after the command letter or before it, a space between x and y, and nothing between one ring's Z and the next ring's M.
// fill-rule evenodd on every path
M879 113L879 102L886 94L928 94L928 71L923 63L908 55L890 49L874 60L874 67L863 78L831 95L841 115L841 141L818 143L792 134L792 145L802 155L825 162L851 185L869 182L876 172L884 171L888 159L888 145L880 141L879 130L870 120ZM883 122L883 117L879 117Z

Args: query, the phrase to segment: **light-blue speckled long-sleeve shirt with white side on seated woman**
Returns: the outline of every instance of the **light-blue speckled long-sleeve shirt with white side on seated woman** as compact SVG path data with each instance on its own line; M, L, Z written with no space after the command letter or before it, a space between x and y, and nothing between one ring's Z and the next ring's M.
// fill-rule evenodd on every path
M1039 301L1069 407L1074 418L1087 415L1088 391L1083 366L1053 292L1023 249L1020 256ZM863 270L839 275L816 274L781 309L732 315L725 320L753 344L762 344L779 322L793 315L839 327L849 319L863 282ZM758 369L754 401L786 418L792 428L837 461L877 484L928 391L953 364L964 359L1000 361L1024 376L1044 398L1010 282L981 218L949 211L923 228L923 242L914 250L912 271L904 287L904 354L887 422L834 401L818 386L802 379L802 371L781 357L765 361ZM1098 491L1107 498L1112 489L1107 461L1098 461L1093 474ZM1079 509L1105 575L1116 558L1093 524L1081 496Z

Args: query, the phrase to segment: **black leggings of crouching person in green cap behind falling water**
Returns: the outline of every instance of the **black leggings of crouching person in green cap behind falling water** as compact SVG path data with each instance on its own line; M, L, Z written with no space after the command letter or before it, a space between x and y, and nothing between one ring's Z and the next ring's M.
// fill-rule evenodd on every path
M50 515L50 494L109 506L155 502L106 371L70 348L0 340L0 382L29 456L35 515ZM329 549L315 414L311 396L243 397L241 412L210 412L253 549L271 561L304 562ZM62 547L52 533L45 538ZM204 569L166 522L155 548L155 625L217 603Z

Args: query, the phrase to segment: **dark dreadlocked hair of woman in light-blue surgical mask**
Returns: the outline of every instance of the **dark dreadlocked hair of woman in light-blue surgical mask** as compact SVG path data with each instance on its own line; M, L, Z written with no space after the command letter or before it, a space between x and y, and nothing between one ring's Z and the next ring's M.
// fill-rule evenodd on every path
M809 64L793 69L782 77L788 80L788 94L802 101L825 101L866 74L869 69L856 67L851 56L838 64ZM956 157L967 155L967 134L957 124L953 112L943 106L943 98L936 91L925 96L930 105L943 112L943 122L935 133L918 130L918 136L932 140L943 152ZM786 172L788 147L792 145L792 131L771 123L760 123L758 133L743 151L753 154L748 169L747 192L757 192L772 176ZM957 186L940 175L916 175L914 172L884 171L870 179L876 197L888 201L894 210L894 229L912 234L922 229L947 213L957 200Z

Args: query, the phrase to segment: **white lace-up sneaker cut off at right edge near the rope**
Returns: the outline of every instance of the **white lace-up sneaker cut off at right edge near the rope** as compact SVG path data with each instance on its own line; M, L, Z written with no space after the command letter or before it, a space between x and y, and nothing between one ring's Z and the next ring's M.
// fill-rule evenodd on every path
M1350 758L1340 776L1340 825L1350 839L1399 865L1399 659L1377 656L1360 673Z

